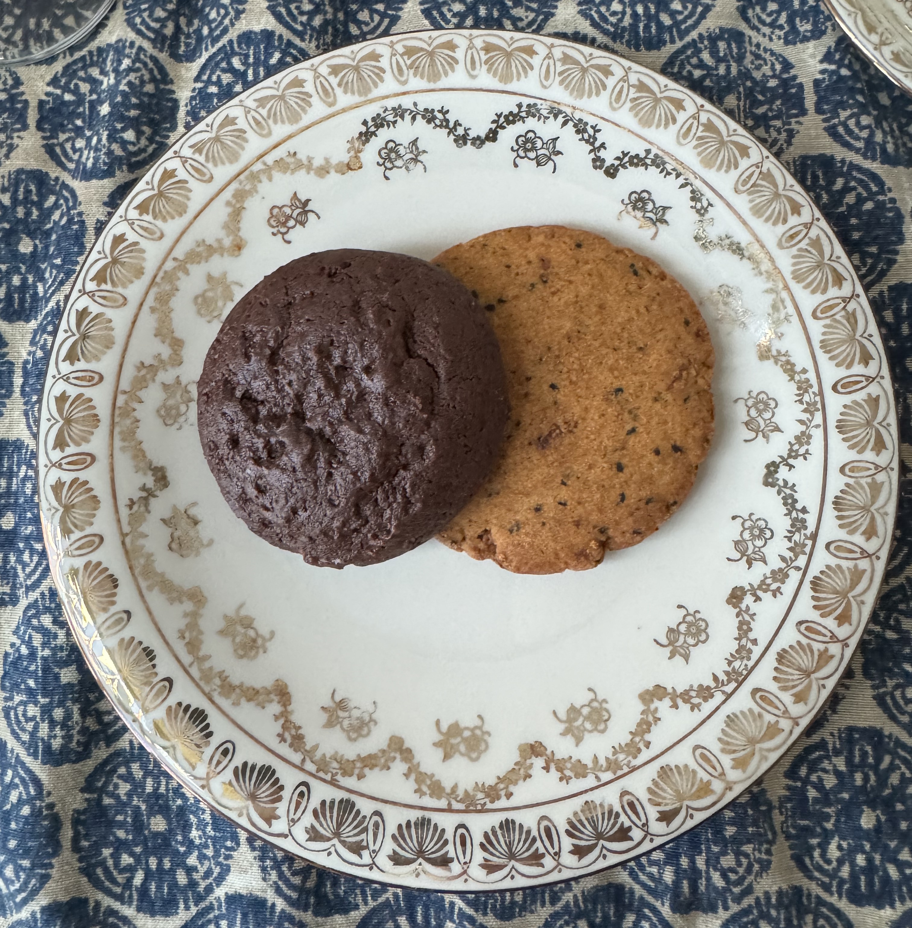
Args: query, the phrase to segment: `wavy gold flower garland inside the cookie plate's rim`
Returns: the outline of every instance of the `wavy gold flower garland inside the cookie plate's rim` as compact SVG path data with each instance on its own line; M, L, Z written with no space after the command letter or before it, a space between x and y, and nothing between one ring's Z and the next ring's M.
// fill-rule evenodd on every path
M539 120L559 119L572 122L576 135L579 136L584 144L589 146L590 154L593 152L605 152L606 149L604 143L599 143L598 141L600 129L597 125L590 126L590 124L585 122L582 118L572 117L566 110L552 105L543 108L538 104L525 104L524 106L518 104L515 110L510 110L507 113L506 117L503 113L498 113L492 121L493 129L489 130L484 138L482 138L482 136L474 136L474 138L472 138L467 126L464 126L458 121L451 121L448 110L419 110L417 108L404 108L399 106L387 107L383 114L364 122L366 127L365 131L351 140L349 144L350 151L363 151L369 141L378 135L379 129L384 127L389 128L395 123L407 119L410 115L432 124L435 128L446 130L447 134L454 138L456 145L459 147L464 147L465 143L468 142L473 148L482 148L485 141L496 141L497 133L505 127L505 124L524 122L526 119L532 118ZM510 119L512 119L513 123L509 122ZM223 231L225 237L232 243L231 248L233 252L237 251L237 253L240 253L246 247L244 240L239 238L239 224L245 209L244 204L259 188L263 178L267 176L271 177L275 173L295 174L302 170L302 166L306 166L306 162L301 161L297 156L289 156L289 158L290 161L288 162L283 160L264 162L262 168L250 172L250 174L245 176L243 182L239 185L241 193L228 201L228 218L223 226ZM602 159L602 161L604 162L605 160ZM618 161L619 158L614 159L615 163ZM652 153L649 160L640 158L639 161L636 161L636 158L629 157L629 152L624 152L623 155L620 156L620 161L632 167L657 167L671 176L679 174L679 172L676 171L673 174L672 171L667 168L667 161L657 152ZM342 165L342 167L343 170L341 170L340 173L347 173L345 170L346 168L349 170L353 169L351 165ZM611 176L613 176L613 173ZM761 357L768 358L771 356L771 353L766 345L776 335L775 327L782 324L787 319L784 304L782 304L782 294L779 291L780 289L777 289L775 276L771 268L767 266L770 264L769 259L764 257L755 247L745 247L735 239L720 238L713 240L703 235L702 233L705 231L706 224L712 223L712 219L705 218L711 209L711 204L706 200L705 195L698 187L690 182L687 183L687 186L691 190L690 199L692 206L701 217L698 222L698 234L695 236L700 247L704 251L722 248L726 251L735 253L742 260L748 260L753 266L754 271L771 285L769 292L773 294L774 309L770 318L770 324L764 335L764 340L761 342L763 347L758 348L758 354L760 354ZM175 258L174 262L178 268L186 264L206 264L212 257L221 256L224 253L224 248L212 246L208 242L202 241L192 246L183 257ZM172 303L173 296L176 292L177 279L178 273L176 270L172 269L162 275L161 283L156 286L153 305L160 321L162 319L165 320L166 324L163 327L160 326L163 332L171 331ZM207 280L208 279L209 277L207 277ZM196 298L194 302L196 303ZM615 745L611 750L610 756L604 756L601 760L598 760L597 757L593 757L591 761L587 762L573 756L559 756L553 749L549 749L542 741L524 743L518 746L517 760L507 771L495 777L490 783L476 781L472 787L467 788L460 786L458 782L451 782L449 785L446 785L440 776L423 769L421 761L416 756L414 747L408 745L405 739L396 734L390 736L385 748L371 754L357 754L354 757L349 757L338 751L332 754L326 754L325 752L319 754L318 745L309 743L302 727L294 719L293 700L284 681L276 680L270 687L250 687L237 679L233 679L225 668L212 667L210 655L203 652L204 637L200 625L200 619L207 601L205 592L199 587L186 590L182 586L175 584L167 574L164 574L158 568L155 553L149 551L144 545L144 540L147 536L145 532L145 522L150 512L150 500L158 496L167 486L168 477L166 470L161 467L157 468L148 460L142 443L136 437L136 433L139 429L139 419L137 418L136 411L137 407L143 402L143 393L148 386L151 385L147 376L148 372L154 369L156 376L158 376L162 370L168 367L179 367L182 363L182 346L177 343L171 344L170 342L166 342L166 344L172 349L167 360L159 357L157 360L153 360L149 363L140 362L131 389L124 392L126 399L122 402L121 406L118 407L116 417L122 448L124 450L129 450L134 461L138 460L144 462L143 466L137 472L140 475L144 475L150 470L155 470L158 473L157 483L151 489L146 486L140 487L137 499L141 502L141 505L137 507L133 501L129 503L130 509L134 511L131 512L129 518L129 531L126 534L126 543L131 563L134 565L133 569L148 588L165 592L170 601L192 601L192 608L186 612L187 623L178 632L178 638L184 641L186 651L190 657L188 669L196 668L198 678L204 688L211 695L221 696L223 699L230 700L234 705L240 702L252 702L259 708L266 709L269 706L275 707L277 702L278 710L274 713L274 717L276 722L280 723L280 728L277 732L278 742L288 744L290 750L299 755L302 765L312 767L320 776L328 777L332 780L354 779L360 781L364 780L372 771L389 770L393 766L399 765L405 768L403 771L405 779L414 781L415 793L417 793L419 798L430 797L432 800L445 802L448 807L456 805L465 806L467 808L482 808L490 803L512 798L514 788L533 776L535 769L533 764L534 759L542 759L544 764L541 769L545 773L553 773L556 775L560 783L569 784L572 781L587 780L589 778L594 779L596 782L601 782L602 778L605 776L609 778L616 777L623 771L634 769L637 762L639 764L644 762L645 758L643 755L645 751L649 749L650 745L647 736L652 735L655 728L662 722L662 716L658 714L656 708L658 702L668 699L669 707L672 710L676 710L682 705L688 705L691 711L699 710L702 703L710 702L716 696L726 698L730 695L732 687L737 686L740 680L747 674L753 654L751 645L755 644L751 638L754 616L750 609L746 611L739 610L739 634L736 639L736 651L730 655L726 671L722 676L713 675L711 684L691 685L680 693L674 689L668 690L666 687L662 686L662 684L656 684L651 687L650 690L647 690L647 693L651 694L651 698L649 702L646 702L646 708L643 710L635 730L630 733L629 741ZM786 357L786 355L782 356ZM794 374L793 366L791 374ZM806 371L802 370L799 374L806 374ZM791 379L794 379L794 377L791 377ZM800 409L802 408L802 403L804 403L804 411L811 409L811 419L803 422L802 434L805 440L801 441L800 439L802 436L799 435L796 436L791 443L790 452L786 458L787 463L791 460L807 459L809 455L810 435L812 431L817 428L816 424L813 424L813 418L816 415L816 394L813 393L810 381L806 378L799 377L799 383L801 389L797 394L796 401ZM807 405L809 402L808 396L810 396L811 406ZM778 467L776 462L769 465L767 470L774 466ZM788 466L792 467L793 465L788 463ZM776 487L777 481L774 479L773 483L769 483L768 485ZM786 484L786 487L790 489L794 488L793 485L789 487L789 484ZM791 503L790 508L795 510L799 509L797 501ZM806 510L802 509L802 512L804 511ZM792 514L794 515L794 513ZM800 516L801 513L799 513L799 517ZM805 534L806 525L804 525L803 529L799 532L799 545L803 542ZM795 538L793 535L794 533L792 535L786 535L786 540L791 541L794 546ZM782 585L788 579L790 572L799 570L797 562L805 551L806 545L797 553L791 553L788 559L783 557L783 561L787 564L787 567L779 569L777 574L774 574L772 582L770 582L769 577L764 577L758 586L751 586L751 593L754 601L759 601L762 598L760 595L761 593L772 592L774 597L777 596L781 592ZM741 589L741 587L735 587L732 591L732 596L736 596L739 589ZM735 607L733 606L733 608ZM671 656L677 653L681 653L689 660L689 648L675 648L671 651ZM433 746L440 747L441 742L435 742ZM449 755L444 749L443 760L447 760L448 756Z

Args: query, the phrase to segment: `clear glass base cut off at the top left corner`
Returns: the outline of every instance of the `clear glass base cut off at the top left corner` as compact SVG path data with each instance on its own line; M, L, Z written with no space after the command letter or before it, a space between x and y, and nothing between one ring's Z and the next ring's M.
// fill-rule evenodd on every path
M0 66L41 61L92 32L114 0L0 0Z

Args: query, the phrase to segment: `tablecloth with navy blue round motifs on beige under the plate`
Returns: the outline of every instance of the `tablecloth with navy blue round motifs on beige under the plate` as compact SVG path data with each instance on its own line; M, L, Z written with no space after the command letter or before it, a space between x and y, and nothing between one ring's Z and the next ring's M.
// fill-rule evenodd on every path
M0 30L32 2L0 0ZM867 285L912 441L912 97L820 0L122 0L83 45L0 70L0 924L912 928L907 513L861 649L806 736L700 828L576 883L446 896L305 866L184 793L83 666L32 472L48 347L83 254L137 175L213 107L315 52L428 26L603 45L758 135Z

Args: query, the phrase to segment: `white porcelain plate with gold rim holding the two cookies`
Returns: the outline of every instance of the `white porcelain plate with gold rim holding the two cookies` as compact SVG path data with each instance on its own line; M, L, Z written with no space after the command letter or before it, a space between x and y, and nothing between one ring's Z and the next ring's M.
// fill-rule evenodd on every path
M539 224L649 255L706 317L716 432L674 518L554 576L250 534L194 401L238 298L310 251ZM73 632L161 764L294 854L454 890L605 868L759 777L861 635L897 466L867 299L781 164L658 74L501 32L313 58L168 150L72 290L38 464Z

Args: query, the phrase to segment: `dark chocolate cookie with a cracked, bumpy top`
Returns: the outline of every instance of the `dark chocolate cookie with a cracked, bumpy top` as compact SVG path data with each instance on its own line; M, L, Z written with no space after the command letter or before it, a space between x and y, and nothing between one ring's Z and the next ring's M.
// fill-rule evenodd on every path
M236 515L318 566L386 561L449 522L507 421L488 315L417 258L323 251L235 306L203 365L199 438Z

